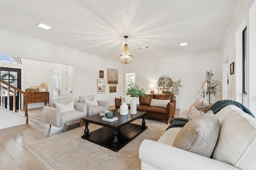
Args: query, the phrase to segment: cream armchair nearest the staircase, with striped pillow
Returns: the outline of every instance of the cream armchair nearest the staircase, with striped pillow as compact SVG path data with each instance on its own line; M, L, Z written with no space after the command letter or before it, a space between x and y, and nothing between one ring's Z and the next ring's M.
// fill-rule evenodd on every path
M56 104L57 103L57 104ZM72 109L73 107L73 109ZM63 99L50 99L50 104L43 108L44 123L55 127L66 127L80 123L82 127L82 118L87 115L86 105L74 103L72 97Z

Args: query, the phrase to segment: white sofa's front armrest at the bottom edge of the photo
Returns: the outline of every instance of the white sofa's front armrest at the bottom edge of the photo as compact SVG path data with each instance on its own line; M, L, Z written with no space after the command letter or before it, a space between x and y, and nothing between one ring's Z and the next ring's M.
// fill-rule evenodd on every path
M141 170L240 170L236 166L145 139L139 149Z

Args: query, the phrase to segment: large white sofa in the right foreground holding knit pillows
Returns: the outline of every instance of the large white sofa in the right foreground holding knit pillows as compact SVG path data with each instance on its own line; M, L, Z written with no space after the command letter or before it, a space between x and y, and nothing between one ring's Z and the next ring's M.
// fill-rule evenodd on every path
M180 109L180 117L186 118L187 113L188 109ZM172 127L158 141L141 143L141 169L256 170L256 119L234 105L222 108L216 116L220 133L212 158L173 147L182 127Z

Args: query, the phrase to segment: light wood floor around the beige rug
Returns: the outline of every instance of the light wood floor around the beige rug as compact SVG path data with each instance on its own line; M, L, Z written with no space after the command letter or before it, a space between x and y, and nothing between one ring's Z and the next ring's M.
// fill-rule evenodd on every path
M115 109L114 106L109 107ZM24 146L64 133L64 127L49 127L42 121L43 108L28 109L28 124L0 129L0 170L45 170ZM176 117L177 111L174 114ZM67 131L79 124L67 127Z

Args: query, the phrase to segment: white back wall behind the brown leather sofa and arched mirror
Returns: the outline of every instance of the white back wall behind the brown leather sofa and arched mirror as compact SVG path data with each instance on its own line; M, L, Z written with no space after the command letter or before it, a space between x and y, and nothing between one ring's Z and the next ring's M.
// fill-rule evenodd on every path
M182 79L183 86L179 88L179 107L190 107L197 98L200 98L201 87L207 70L213 70L213 80L222 81L222 64L219 51L186 56L167 57L164 59L136 62L136 57L130 63L126 72L136 72L137 84L149 94L150 83L157 84L160 76L169 76L173 80ZM171 91L171 89L169 89ZM157 89L155 89L157 92ZM208 98L207 98L208 99ZM219 91L211 103L219 100Z

